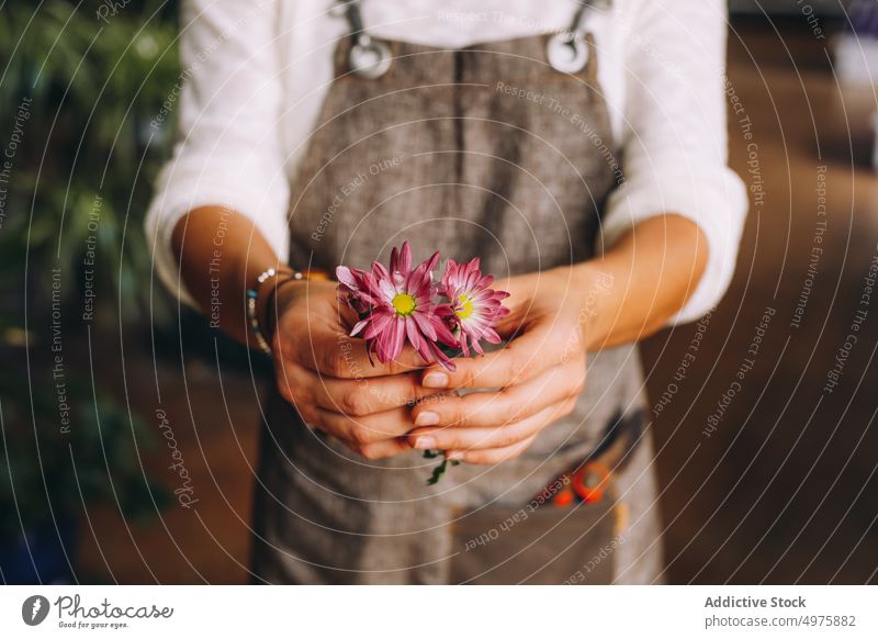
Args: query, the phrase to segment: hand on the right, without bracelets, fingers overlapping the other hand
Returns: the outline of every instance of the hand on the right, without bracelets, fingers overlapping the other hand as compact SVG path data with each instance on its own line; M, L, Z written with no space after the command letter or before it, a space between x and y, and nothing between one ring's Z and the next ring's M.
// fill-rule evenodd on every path
M453 372L437 366L423 372L426 388L449 392L414 407L409 444L444 450L449 459L497 463L569 415L585 386L587 302L595 283L570 268L498 283L510 293L510 314L497 332L510 341L484 357L455 359ZM454 391L462 389L497 390L459 396Z

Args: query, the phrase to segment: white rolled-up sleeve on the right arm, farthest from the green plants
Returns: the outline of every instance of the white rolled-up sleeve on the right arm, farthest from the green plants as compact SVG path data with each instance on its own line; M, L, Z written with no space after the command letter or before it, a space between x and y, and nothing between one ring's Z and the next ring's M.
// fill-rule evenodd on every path
M634 224L678 213L707 237L707 268L668 324L702 316L725 293L747 213L742 180L728 168L724 0L644 0L624 46L624 181L610 195L601 242Z

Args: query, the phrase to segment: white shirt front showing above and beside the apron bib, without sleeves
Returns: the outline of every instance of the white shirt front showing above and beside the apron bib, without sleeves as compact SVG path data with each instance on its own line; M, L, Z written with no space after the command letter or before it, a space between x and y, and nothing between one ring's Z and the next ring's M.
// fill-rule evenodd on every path
M614 139L623 122L622 51L637 0L598 0L585 15L601 63L599 86L609 105ZM290 98L281 114L280 134L288 176L295 189L300 162L317 126L334 77L336 42L348 33L344 16L330 9L333 0L283 3L279 9L278 40L272 46L281 59L280 75ZM511 41L566 29L578 0L367 0L363 22L373 36L434 48L463 48L480 43Z

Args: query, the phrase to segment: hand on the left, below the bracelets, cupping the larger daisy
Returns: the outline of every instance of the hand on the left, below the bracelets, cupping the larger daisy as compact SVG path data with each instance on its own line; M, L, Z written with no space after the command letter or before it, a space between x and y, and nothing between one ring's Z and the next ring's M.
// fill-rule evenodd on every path
M410 406L437 392L420 383L420 356L407 346L395 361L370 362L365 341L348 336L356 313L331 282L284 282L274 309L278 388L302 419L368 459L410 450Z

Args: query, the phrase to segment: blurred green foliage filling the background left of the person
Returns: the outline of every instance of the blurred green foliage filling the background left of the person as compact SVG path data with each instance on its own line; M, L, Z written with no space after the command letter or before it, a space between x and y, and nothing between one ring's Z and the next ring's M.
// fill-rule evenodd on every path
M161 324L171 309L151 282L143 218L170 153L172 119L149 124L179 79L177 11L159 0L0 2L0 153L23 123L0 184L0 581L27 581L15 573L24 556L41 581L64 581L65 567L53 576L46 562L70 554L70 522L87 505L109 501L136 518L167 502L140 459L155 433L95 385L82 352L89 330L97 344L119 340L123 322ZM95 305L86 323L89 248ZM63 273L60 299L52 269ZM52 381L53 312L63 318L68 433Z

